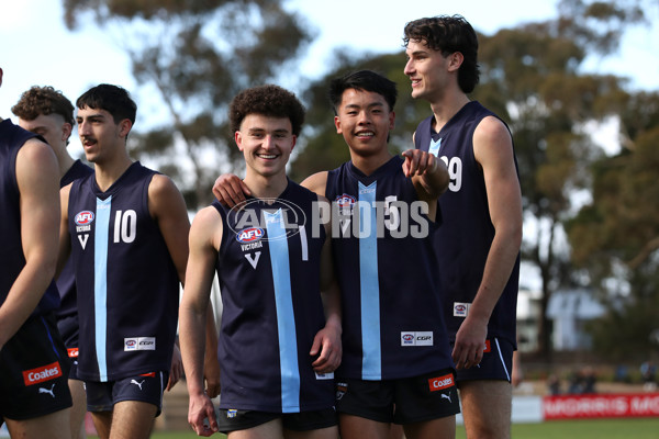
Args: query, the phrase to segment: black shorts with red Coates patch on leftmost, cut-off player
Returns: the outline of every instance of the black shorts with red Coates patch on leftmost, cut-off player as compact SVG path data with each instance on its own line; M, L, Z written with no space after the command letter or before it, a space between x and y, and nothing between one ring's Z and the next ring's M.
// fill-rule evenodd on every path
M70 407L68 372L55 316L27 318L0 350L0 419L32 419Z

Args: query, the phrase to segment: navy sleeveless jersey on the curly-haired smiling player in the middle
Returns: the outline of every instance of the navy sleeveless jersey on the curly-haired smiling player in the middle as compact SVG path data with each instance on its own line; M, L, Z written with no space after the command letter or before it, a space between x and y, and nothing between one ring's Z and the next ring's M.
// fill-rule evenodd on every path
M222 244L219 358L224 409L300 413L334 405L333 374L316 375L309 354L325 326L320 292L325 230L311 229L317 195L289 181L272 204L217 202Z

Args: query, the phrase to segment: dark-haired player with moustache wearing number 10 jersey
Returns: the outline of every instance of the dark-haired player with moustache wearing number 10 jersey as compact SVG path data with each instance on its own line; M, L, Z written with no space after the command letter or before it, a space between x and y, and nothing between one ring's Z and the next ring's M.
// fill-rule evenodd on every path
M101 438L147 438L160 413L188 258L186 203L174 182L126 150L136 105L116 86L78 98L94 173L62 190L60 259L72 255L78 376Z

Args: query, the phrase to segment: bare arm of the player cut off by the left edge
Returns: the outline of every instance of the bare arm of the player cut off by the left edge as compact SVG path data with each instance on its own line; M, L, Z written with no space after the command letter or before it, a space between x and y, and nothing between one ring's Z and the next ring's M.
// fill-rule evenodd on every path
M25 266L0 306L0 349L25 323L55 275L59 168L51 147L30 139L16 156L21 241Z

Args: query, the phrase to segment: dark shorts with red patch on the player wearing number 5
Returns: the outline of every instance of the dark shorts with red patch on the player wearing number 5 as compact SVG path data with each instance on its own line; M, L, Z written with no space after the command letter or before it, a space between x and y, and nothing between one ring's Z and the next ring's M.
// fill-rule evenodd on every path
M336 410L378 423L412 424L460 413L455 371L388 381L336 380Z

